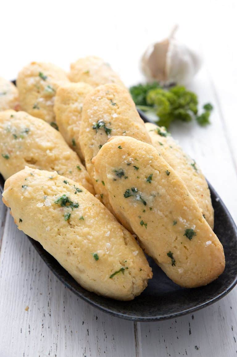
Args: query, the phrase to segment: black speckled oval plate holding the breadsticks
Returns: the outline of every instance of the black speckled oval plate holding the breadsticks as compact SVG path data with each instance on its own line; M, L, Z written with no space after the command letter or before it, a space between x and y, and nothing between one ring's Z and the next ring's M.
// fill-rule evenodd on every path
M147 118L140 113L142 119ZM0 188L4 180L0 176ZM156 265L152 258L147 257L153 271L153 278L148 286L133 301L116 301L82 288L67 271L49 254L40 243L28 237L47 266L73 291L77 296L100 310L111 315L133 321L159 321L199 310L225 296L237 283L237 228L226 206L209 185L212 205L215 210L214 232L220 239L226 257L226 268L223 274L211 284L200 288L186 289L173 283Z

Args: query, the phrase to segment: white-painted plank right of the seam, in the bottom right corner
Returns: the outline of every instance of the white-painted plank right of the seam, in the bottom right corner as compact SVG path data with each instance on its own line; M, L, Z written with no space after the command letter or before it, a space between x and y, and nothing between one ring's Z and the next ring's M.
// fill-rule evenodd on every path
M193 314L158 323L139 323L142 356L235 356L236 297L235 290L220 302Z

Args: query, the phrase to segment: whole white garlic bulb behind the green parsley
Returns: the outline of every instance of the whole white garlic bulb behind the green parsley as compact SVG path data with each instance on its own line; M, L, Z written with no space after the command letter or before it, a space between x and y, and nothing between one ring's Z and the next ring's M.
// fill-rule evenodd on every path
M201 56L175 39L174 34L148 46L142 56L141 67L148 80L188 84L201 67Z

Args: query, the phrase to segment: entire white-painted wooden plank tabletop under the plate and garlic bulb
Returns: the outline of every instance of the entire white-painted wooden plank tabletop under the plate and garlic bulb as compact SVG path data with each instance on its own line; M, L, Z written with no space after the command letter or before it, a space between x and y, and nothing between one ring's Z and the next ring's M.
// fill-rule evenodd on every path
M33 4L33 5L32 5ZM25 6L24 11L22 6ZM196 35L205 65L191 89L215 106L212 125L172 126L237 221L237 50L234 1L9 1L2 5L0 75L12 79L31 60L96 54L127 85L140 80L146 45L179 22ZM15 10L12 13L13 9ZM2 12L1 11L1 12ZM191 315L133 323L77 298L51 273L0 203L0 357L232 357L237 354L237 288Z

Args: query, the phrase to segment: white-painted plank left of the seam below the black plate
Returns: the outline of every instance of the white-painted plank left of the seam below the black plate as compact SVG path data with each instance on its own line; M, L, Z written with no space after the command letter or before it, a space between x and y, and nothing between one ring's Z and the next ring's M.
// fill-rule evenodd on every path
M136 355L133 322L100 312L65 288L9 212L0 258L1 357Z

